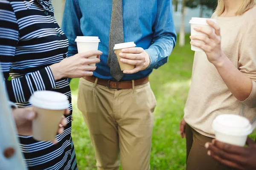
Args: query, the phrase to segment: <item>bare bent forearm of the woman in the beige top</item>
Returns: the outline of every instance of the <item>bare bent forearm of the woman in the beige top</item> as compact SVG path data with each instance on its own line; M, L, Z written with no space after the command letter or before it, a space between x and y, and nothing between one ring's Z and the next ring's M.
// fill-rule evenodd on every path
M221 61L214 64L221 78L239 101L247 99L252 91L252 80L242 74L226 56L221 57Z

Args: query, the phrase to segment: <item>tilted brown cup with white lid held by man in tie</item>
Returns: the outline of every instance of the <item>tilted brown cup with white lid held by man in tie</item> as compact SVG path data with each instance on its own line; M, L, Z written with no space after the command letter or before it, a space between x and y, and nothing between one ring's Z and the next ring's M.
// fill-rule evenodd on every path
M126 64L120 61L120 59L122 57L119 56L119 54L121 53L121 50L124 48L132 48L132 47L136 47L136 44L134 42L125 42L125 43L120 43L120 44L116 44L114 46L114 50L116 51L116 57L118 59L121 71L124 70L132 70L135 68L135 65L130 65L130 64Z

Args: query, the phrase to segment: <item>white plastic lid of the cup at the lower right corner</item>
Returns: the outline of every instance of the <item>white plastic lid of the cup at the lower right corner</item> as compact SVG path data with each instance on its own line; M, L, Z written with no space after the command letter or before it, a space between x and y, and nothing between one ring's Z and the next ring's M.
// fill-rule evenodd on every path
M253 131L248 119L234 114L217 116L212 123L212 128L215 131L233 136L249 135Z

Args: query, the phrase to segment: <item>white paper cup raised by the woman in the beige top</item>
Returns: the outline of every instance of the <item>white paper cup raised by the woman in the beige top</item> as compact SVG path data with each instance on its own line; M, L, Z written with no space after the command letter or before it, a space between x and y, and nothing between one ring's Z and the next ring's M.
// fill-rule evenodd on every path
M209 19L209 18L192 17L192 19L189 21L189 23L191 24L191 35L206 35L204 33L195 31L195 29L194 29L195 27L204 27L204 28L214 30L211 26L209 26L207 24L207 19ZM210 19L210 20L212 20L216 23L215 19ZM191 41L200 42L202 44L205 44L203 41L200 41L200 40L191 40ZM203 51L201 48L195 47L194 45L191 45L191 50L192 51Z

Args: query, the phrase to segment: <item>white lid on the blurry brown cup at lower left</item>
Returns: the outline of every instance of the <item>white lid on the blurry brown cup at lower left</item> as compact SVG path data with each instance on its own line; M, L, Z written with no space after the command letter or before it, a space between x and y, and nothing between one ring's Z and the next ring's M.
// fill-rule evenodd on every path
M36 91L29 102L38 108L63 110L69 107L67 96L55 91Z

